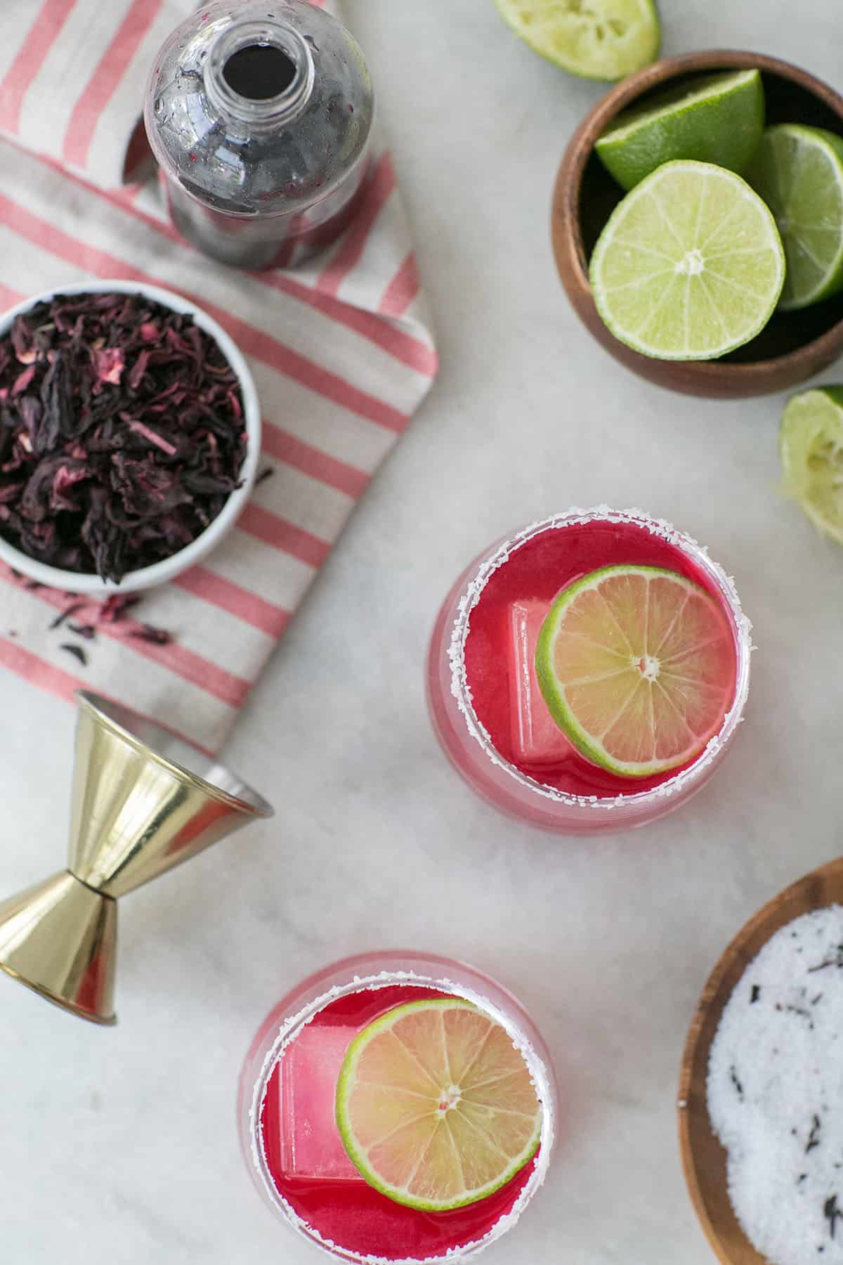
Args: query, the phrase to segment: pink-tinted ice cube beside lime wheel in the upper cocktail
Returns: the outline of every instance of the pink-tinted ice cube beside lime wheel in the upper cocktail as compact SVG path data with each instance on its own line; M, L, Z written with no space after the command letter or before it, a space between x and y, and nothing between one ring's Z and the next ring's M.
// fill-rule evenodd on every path
M536 641L549 610L537 598L509 606L509 731L519 764L559 764L571 753L536 677Z

